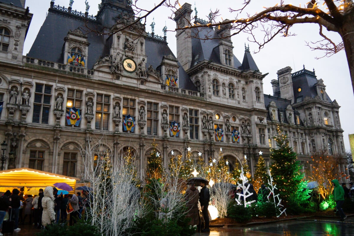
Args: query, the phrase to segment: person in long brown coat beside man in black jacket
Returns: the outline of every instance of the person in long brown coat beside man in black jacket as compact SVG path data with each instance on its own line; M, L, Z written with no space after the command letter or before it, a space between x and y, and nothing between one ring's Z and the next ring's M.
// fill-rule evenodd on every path
M187 218L191 218L189 225L199 224L199 191L194 184L190 184L190 188L185 192L184 200L187 202Z

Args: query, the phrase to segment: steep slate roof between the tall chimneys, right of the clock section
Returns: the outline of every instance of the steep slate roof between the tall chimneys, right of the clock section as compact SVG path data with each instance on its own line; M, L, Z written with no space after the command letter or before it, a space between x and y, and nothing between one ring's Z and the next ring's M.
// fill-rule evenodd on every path
M194 33L198 38L192 37L192 64L193 67L195 63L195 56L199 54L198 61L213 61L214 63L221 64L220 53L219 53L219 44L220 39L208 39L203 40L203 38L218 38L218 34L212 28L204 27L200 28L197 31L194 29ZM234 57L234 67L239 68L241 66L240 61Z

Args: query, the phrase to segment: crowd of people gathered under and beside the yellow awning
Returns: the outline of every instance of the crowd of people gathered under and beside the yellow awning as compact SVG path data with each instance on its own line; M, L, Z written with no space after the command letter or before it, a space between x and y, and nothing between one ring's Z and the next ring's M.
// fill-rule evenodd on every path
M19 224L28 224L43 229L50 224L67 224L69 211L69 225L74 225L81 219L85 208L86 197L81 197L81 192L75 194L58 194L58 189L47 186L44 190L39 189L39 194L19 195L18 189L12 192L7 190L0 196L0 229L4 219L14 221L13 230L19 231ZM88 195L83 192L84 196ZM8 215L8 217L7 217ZM32 221L33 220L33 221ZM3 235L0 230L0 236Z

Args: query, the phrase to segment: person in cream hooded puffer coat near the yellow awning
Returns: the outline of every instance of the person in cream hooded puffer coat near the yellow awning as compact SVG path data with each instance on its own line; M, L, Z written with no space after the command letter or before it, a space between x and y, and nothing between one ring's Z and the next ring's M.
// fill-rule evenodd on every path
M54 212L54 195L53 188L51 186L47 186L44 189L44 197L42 198L42 225L47 226L55 220L55 212Z

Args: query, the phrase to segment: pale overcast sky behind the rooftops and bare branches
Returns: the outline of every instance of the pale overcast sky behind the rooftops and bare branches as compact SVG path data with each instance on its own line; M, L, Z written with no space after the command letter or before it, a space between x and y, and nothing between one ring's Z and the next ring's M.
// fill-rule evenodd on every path
M98 11L98 4L101 2L101 0L88 1L90 5L89 14L95 16ZM301 4L301 6L304 6L308 1L309 0L294 2L285 0L285 4ZM160 0L139 0L138 4L143 9L151 9L154 7L154 4L159 2ZM194 0L180 0L181 5L183 5L184 2L192 4L192 8L194 8ZM207 19L207 15L209 15L210 9L212 11L219 9L221 13L219 18L221 21L221 17L223 17L223 19L235 18L234 13L230 13L228 8L239 8L240 5L237 2L243 1L196 0L195 5L198 11L198 17L202 19ZM262 5L259 5L259 2L262 2ZM246 18L246 12L252 15L256 12L261 12L264 10L263 6L274 6L278 2L279 1L274 0L254 0L253 5L248 8L249 10L246 10L244 15L239 16L239 18ZM319 4L320 8L322 8L321 10L327 11L324 9L324 7L322 7L322 2L323 1L320 1ZM69 0L55 0L55 5L68 7ZM50 7L50 0L26 0L26 7L27 6L29 6L29 11L33 13L33 18L24 45L24 55L28 53L41 25L45 20L48 8ZM73 10L85 12L85 8L85 0L74 0ZM165 22L169 30L175 29L175 22L168 19L171 14L172 11L165 7L161 7L160 9L156 10L147 19L146 31L151 32L151 27L149 25L153 21L153 18L155 21L155 34L163 36L162 28L165 26ZM192 16L194 16L194 12L192 13ZM317 41L321 39L318 34L319 28L315 24L296 25L293 27L291 32L296 33L297 35L286 38L276 37L273 41L265 45L265 47L260 52L252 54L259 70L263 74L269 73L269 75L263 79L264 93L273 95L270 81L272 79L277 79L276 71L281 68L290 66L292 68L292 72L295 72L301 70L304 64L306 69L311 71L314 69L317 79L324 80L324 84L326 85L326 92L329 97L332 100L336 99L338 104L341 106L339 109L339 115L342 128L344 130L344 145L346 150L350 150L348 134L354 133L354 126L352 125L352 117L354 116L354 96L346 55L344 51L342 51L329 58L325 57L316 60L315 57L322 56L322 52L311 51L305 45L305 41ZM331 36L332 40L336 42L341 41L340 37L336 33L327 32L326 34ZM248 35L246 34L240 34L233 36L232 38L234 54L241 62L245 51L245 43L249 44L251 52L257 51L257 45L249 43L247 41L247 36ZM259 36L262 37L262 34L259 34ZM167 32L167 42L169 43L171 50L176 55L175 32Z

